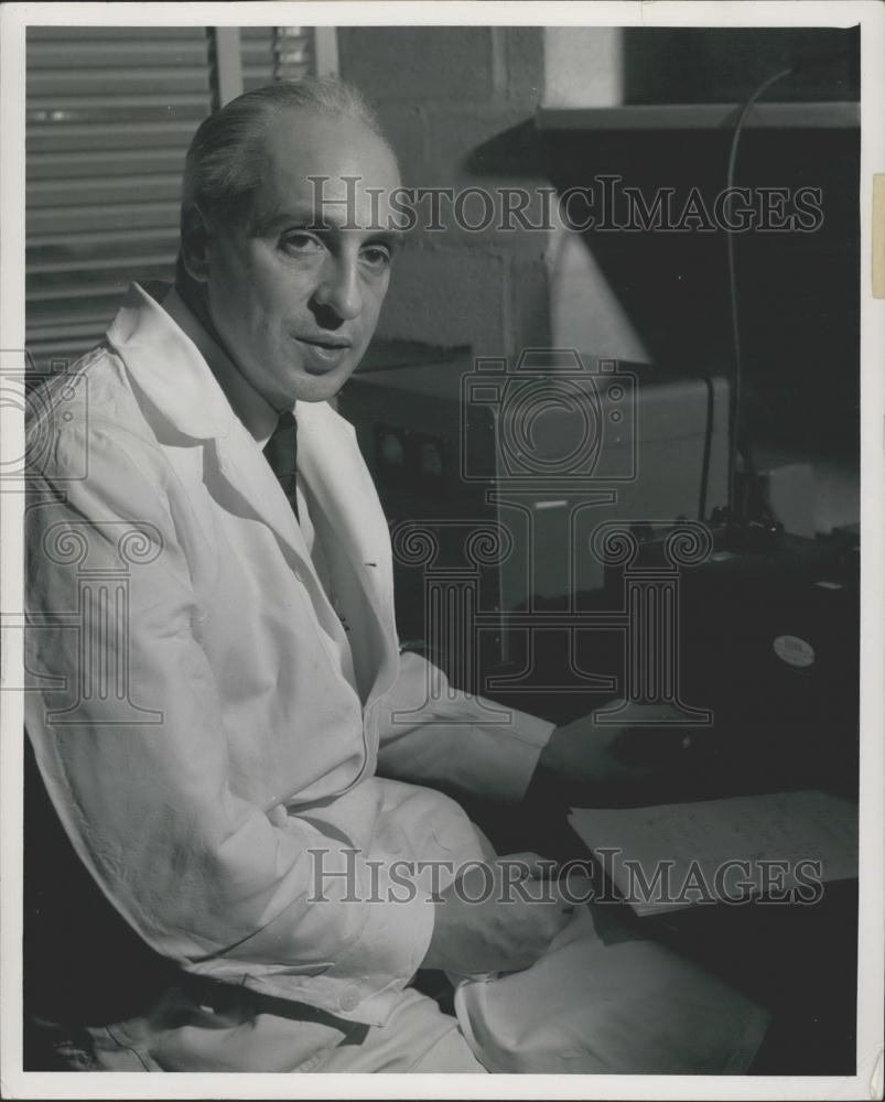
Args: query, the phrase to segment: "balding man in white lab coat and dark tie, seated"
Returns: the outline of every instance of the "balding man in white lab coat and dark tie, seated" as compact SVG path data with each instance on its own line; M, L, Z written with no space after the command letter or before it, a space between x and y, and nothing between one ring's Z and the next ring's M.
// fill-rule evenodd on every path
M539 768L616 769L613 735L427 699L328 404L387 292L398 186L343 84L228 104L188 153L176 285L133 284L35 406L26 1009L57 1066L482 1071L415 973L525 969L569 921L561 897L454 893L496 858L420 785L518 800Z

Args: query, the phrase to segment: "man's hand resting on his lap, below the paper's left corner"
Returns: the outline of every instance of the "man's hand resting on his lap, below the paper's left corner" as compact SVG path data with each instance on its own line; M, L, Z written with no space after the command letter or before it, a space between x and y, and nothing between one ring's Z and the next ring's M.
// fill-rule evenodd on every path
M555 882L546 879L552 867L537 853L472 866L441 893L421 966L470 975L532 964L574 910Z

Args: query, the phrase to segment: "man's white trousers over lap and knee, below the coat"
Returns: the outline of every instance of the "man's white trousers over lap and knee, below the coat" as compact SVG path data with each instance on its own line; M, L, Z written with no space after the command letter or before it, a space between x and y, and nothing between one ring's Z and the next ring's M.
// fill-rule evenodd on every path
M604 906L579 909L525 971L458 981L455 1009L408 987L384 1025L367 1026L199 981L55 1050L94 1071L740 1074L768 1025Z

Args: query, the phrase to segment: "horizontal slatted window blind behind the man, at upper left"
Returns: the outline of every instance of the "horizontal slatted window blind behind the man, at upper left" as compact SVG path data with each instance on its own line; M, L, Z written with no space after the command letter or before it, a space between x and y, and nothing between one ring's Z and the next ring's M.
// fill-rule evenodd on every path
M209 28L32 26L25 332L34 361L96 344L131 280L171 280L184 156L217 104ZM244 88L314 72L311 28L242 28Z

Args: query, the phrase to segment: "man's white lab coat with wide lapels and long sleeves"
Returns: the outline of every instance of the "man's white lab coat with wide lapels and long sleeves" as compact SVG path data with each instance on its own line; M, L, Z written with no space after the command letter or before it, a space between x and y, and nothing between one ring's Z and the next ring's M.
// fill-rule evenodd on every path
M552 728L518 712L489 723L463 694L392 721L422 705L428 667L398 650L385 518L353 428L326 403L296 415L336 608L206 360L130 288L106 345L29 422L42 479L26 726L77 854L153 949L380 1024L421 963L433 907L421 892L347 903L332 876L331 901L311 901L309 851L324 874L353 850L360 876L380 862L381 896L397 857L478 856L453 800L376 767L518 798Z

